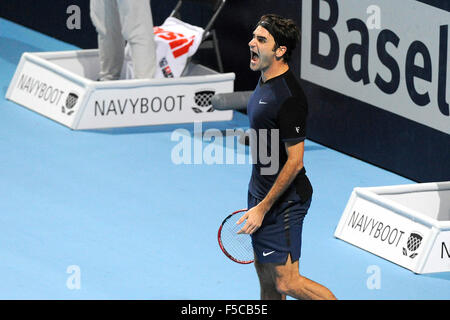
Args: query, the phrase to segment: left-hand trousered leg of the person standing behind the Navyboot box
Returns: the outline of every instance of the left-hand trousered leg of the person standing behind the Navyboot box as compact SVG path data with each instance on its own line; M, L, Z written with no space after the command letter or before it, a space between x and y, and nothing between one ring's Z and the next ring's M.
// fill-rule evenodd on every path
M125 40L116 1L91 0L90 16L98 34L99 80L117 80L122 71Z

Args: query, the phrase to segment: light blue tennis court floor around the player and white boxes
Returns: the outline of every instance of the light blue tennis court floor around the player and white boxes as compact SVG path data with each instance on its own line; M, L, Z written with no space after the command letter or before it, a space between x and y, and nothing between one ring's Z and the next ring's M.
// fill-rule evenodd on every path
M254 267L217 244L222 219L246 206L248 162L175 164L172 133L193 136L192 124L71 131L5 94L23 52L76 48L4 19L0 48L0 299L259 299ZM203 124L247 127L238 112ZM412 182L305 149L315 193L300 272L339 299L449 299L450 273L417 275L333 236L354 187Z

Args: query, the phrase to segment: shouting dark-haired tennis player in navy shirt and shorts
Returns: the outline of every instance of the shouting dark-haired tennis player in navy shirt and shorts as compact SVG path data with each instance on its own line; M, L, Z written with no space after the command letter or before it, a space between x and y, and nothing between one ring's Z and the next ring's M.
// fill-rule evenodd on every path
M261 17L249 42L250 69L261 72L247 105L250 127L260 133L250 145L260 149L249 183L249 210L237 223L245 221L239 233L252 237L261 299L334 300L326 287L299 274L303 219L313 192L303 166L308 104L288 65L299 37L292 20L269 14ZM267 150L261 152L263 132ZM270 157L279 157L279 168L264 174L267 161L260 155L270 150L278 151Z

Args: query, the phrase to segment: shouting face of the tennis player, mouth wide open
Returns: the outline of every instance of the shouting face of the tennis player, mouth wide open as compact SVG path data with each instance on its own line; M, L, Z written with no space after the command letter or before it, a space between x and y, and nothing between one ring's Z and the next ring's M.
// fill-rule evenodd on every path
M265 28L258 26L253 31L253 38L248 43L250 47L250 69L253 71L267 70L275 61L275 40Z

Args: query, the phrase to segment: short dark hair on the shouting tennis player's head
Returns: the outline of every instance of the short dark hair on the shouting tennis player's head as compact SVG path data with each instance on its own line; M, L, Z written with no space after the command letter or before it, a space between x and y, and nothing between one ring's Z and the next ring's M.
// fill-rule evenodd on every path
M280 46L287 48L283 55L284 62L291 58L292 51L297 47L300 41L300 30L292 19L283 18L276 14L266 14L259 19L257 26L265 28L275 39L276 50Z

